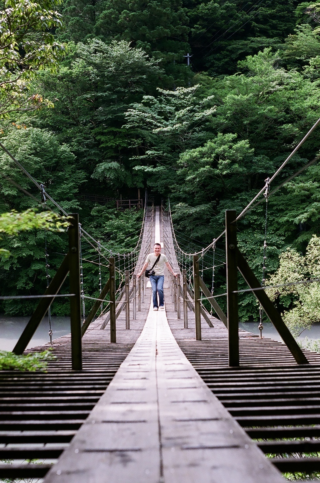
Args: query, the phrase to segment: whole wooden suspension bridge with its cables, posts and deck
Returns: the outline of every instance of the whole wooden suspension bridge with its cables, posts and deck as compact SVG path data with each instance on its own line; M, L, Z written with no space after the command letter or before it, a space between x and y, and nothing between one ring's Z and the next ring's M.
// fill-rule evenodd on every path
M267 199L271 179L259 196ZM43 204L49 199L67 214L33 182ZM0 372L0 478L277 483L285 472L320 471L320 354L300 349L239 251L236 222L244 213L227 211L220 237L190 254L170 208L145 202L139 240L124 255L70 215L68 253L13 351L52 347L55 358L47 372ZM216 246L222 236L225 252ZM155 242L178 274L166 273L159 312L150 282L137 278ZM85 295L89 263L98 270L96 298ZM221 265L227 314L214 295ZM211 290L203 280L209 269ZM239 330L238 272L283 342ZM70 335L26 350L46 313L50 323L68 274L70 293L61 296L70 298Z

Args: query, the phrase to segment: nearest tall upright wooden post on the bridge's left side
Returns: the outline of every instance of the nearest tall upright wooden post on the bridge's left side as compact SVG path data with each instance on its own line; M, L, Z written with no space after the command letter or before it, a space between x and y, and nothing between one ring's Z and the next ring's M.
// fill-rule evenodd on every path
M74 213L70 216L72 219L68 229L69 286L70 294L75 294L70 297L71 366L73 370L82 370L79 214Z

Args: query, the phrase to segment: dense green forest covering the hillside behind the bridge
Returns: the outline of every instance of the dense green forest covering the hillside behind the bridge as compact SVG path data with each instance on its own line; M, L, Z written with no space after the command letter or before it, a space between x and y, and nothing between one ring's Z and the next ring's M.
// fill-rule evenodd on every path
M114 200L138 190L156 204L169 198L181 246L201 249L223 231L225 210L240 213L320 117L320 2L2 0L0 32L0 142L119 253L135 246L142 211L116 210ZM319 148L320 128L271 192ZM55 273L67 237L1 228L6 213L39 210L10 180L40 197L3 151L0 174L0 295L42 293L44 244ZM269 197L267 223L265 202L239 222L259 280L265 233L268 284L320 275L319 184L316 161ZM98 294L96 276L87 267L89 295ZM299 333L320 321L319 289L315 280L269 295ZM216 291L225 291L223 267ZM252 296L239 302L241 320L258 318ZM33 307L5 300L0 312ZM53 311L68 313L68 303Z

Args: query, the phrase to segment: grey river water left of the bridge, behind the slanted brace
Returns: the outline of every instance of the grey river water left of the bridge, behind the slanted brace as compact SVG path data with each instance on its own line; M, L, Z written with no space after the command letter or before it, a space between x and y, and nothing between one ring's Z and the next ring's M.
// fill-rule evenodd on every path
M30 317L9 317L0 314L0 350L12 351ZM52 339L70 333L70 317L51 317ZM44 317L27 348L50 342L48 317Z

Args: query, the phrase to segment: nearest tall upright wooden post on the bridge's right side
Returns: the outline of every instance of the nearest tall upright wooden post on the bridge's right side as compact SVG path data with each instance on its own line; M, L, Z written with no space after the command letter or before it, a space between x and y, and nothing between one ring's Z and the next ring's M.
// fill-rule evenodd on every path
M237 225L235 210L225 212L225 252L227 259L227 317L229 366L239 365Z

